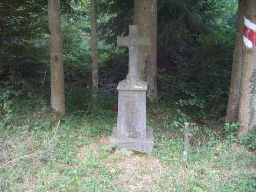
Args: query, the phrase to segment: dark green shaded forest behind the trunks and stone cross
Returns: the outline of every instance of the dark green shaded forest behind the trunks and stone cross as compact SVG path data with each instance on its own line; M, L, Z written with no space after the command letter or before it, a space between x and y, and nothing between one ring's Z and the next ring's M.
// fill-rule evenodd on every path
M116 37L132 24L132 1L97 3L99 87L104 103L90 107L90 4L62 2L67 113L110 109L127 73ZM49 29L44 1L1 3L1 86L14 96L49 101ZM236 1L160 1L158 5L158 102L184 101L198 119L225 114L236 28ZM2 92L2 94L7 94ZM7 96L6 96L7 97ZM7 99L2 96L3 100ZM36 99L37 100L37 99ZM184 104L183 103L183 104ZM115 104L116 105L116 104ZM99 109L100 108L100 109ZM200 112L207 114L202 117ZM2 110L2 113L4 111Z

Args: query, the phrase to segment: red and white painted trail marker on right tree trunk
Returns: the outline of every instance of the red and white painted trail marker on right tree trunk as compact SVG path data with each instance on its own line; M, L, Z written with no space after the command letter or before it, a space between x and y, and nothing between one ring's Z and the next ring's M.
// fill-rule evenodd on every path
M244 44L248 48L256 46L256 24L244 17Z

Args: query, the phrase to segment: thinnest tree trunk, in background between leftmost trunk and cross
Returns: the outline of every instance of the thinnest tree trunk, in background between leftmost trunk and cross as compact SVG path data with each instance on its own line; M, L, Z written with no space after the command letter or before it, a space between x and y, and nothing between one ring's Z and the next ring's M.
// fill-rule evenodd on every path
M98 90L98 59L97 59L97 40L96 40L96 13L95 0L90 0L91 6L91 44L92 44L92 89L93 96Z

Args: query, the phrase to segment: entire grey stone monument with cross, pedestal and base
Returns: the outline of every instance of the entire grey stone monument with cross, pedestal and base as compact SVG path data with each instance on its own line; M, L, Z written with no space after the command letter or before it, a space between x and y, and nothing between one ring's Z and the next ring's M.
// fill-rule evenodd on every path
M146 126L147 82L138 72L139 47L150 45L148 37L140 37L138 26L129 26L129 36L117 37L118 46L129 49L129 68L125 80L118 83L117 127L110 138L110 150L150 153L153 148L152 129Z

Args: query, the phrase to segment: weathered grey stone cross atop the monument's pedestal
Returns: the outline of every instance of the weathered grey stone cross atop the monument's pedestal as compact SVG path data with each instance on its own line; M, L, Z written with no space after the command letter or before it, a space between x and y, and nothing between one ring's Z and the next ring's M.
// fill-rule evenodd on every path
M126 46L129 49L129 67L127 79L140 79L138 73L139 47L149 46L148 37L140 37L137 25L129 25L129 36L117 37L117 46Z

